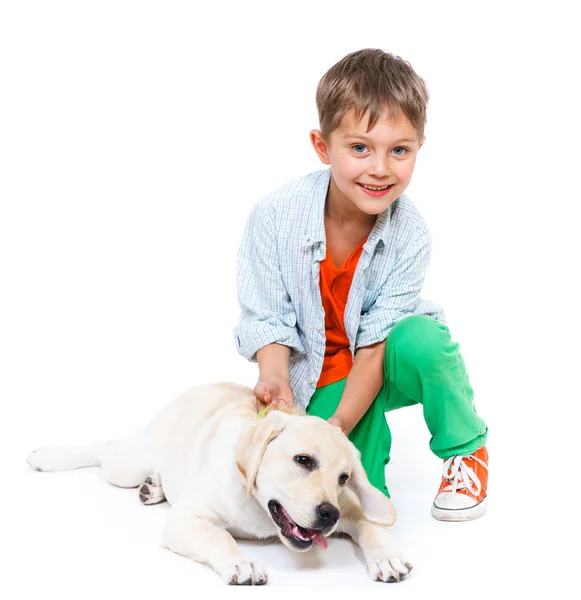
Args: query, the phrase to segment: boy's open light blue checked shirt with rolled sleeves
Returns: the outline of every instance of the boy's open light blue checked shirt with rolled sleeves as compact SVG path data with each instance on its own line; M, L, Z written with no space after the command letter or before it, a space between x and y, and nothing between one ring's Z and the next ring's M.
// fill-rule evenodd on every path
M325 356L319 267L326 255L324 209L330 179L326 169L269 194L250 213L238 252L238 352L256 361L263 346L289 346L291 387L303 409ZM428 229L402 195L377 216L355 269L344 320L353 356L358 348L385 340L410 315L444 322L442 309L419 296L429 258Z

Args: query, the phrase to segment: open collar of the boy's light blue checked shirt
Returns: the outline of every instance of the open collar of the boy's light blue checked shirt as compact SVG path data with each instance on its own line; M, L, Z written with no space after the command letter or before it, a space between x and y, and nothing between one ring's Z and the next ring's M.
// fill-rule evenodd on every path
M315 192L315 201L311 205L311 211L308 219L308 226L305 231L305 246L314 246L323 243L326 240L325 234L325 200L331 182L331 169L321 171L321 176L317 181ZM375 225L371 230L367 242L363 246L368 252L373 252L378 243L387 245L389 222L393 210L393 202L387 209L377 215Z

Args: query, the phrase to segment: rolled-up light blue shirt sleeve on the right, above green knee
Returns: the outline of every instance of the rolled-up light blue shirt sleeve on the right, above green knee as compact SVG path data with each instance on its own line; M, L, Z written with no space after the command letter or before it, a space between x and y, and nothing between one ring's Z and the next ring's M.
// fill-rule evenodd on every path
M387 339L405 317L418 314L420 291L430 262L431 241L423 231L398 258L371 308L361 315L356 349ZM422 311L420 311L422 312Z

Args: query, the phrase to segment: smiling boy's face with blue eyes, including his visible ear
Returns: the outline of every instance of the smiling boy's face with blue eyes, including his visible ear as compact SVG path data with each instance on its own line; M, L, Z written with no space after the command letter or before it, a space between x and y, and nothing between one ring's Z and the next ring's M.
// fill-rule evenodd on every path
M394 118L385 111L369 132L367 123L368 115L357 121L350 111L327 140L311 131L319 158L331 165L328 202L345 216L377 215L401 196L426 139L418 139L404 114Z

